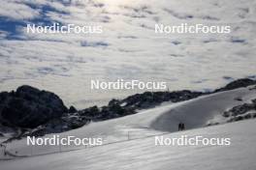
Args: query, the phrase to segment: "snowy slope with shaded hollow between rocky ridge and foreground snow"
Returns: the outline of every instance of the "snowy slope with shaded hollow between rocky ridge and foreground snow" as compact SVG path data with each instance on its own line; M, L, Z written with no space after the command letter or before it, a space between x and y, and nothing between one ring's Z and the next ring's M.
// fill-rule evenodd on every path
M242 101L236 100L243 99ZM191 99L179 103L166 104L154 109L145 110L136 115L130 115L111 121L92 123L89 126L78 128L75 130L60 133L61 137L103 137L104 143L111 143L129 138L142 138L152 134L160 134L163 132L175 132L177 124L183 122L186 128L202 128L208 123L224 123L225 119L221 114L235 105L247 102L256 98L256 90L248 88L240 88L237 90L217 93L198 99ZM53 134L48 134L50 137ZM30 156L58 152L59 147L28 147L26 140L14 141L7 145L8 150L12 153L18 152L19 156ZM76 149L78 147L69 146L62 147L62 151ZM84 147L80 147L84 148ZM33 151L31 151L33 150Z

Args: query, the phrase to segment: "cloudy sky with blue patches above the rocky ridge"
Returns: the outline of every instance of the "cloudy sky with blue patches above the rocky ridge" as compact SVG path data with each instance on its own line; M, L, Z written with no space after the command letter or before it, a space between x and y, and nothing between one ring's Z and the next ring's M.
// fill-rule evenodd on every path
M256 75L255 0L2 0L0 91L28 84L80 108L141 91L90 80L166 81L208 90ZM26 24L102 25L103 34L27 34ZM231 25L226 35L156 35L154 24Z

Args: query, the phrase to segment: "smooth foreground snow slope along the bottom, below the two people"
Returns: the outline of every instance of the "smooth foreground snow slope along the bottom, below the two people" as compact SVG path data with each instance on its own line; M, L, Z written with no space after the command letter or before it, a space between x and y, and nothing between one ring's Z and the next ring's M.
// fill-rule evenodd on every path
M1 162L1 170L255 170L256 120L171 133L230 137L231 146L154 146L154 137Z

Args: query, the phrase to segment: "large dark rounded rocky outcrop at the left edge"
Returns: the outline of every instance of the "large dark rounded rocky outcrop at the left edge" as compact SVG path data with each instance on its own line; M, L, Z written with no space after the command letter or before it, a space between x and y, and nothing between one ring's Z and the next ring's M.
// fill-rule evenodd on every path
M0 93L0 121L8 127L36 128L67 111L58 96L30 86Z

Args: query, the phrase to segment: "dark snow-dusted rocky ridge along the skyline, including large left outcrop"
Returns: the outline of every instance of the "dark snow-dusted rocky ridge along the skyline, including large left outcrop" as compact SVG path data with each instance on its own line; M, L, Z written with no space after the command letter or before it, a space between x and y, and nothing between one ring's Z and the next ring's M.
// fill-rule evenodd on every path
M19 129L16 137L24 135L44 135L46 133L62 132L80 128L90 122L99 122L136 114L140 109L151 108L164 101L178 102L195 99L203 95L237 89L256 84L255 80L244 78L233 81L223 88L209 92L192 92L188 90L175 92L144 92L126 99L112 99L103 107L92 106L77 110L69 109L55 94L40 91L30 86L21 86L16 92L0 93L0 127ZM254 101L253 101L254 103ZM254 105L243 104L223 113L230 117L230 122L236 121L243 110L255 109ZM234 116L233 114L237 114ZM229 116L228 116L229 115ZM230 116L231 115L231 116ZM252 115L253 117L253 115Z

